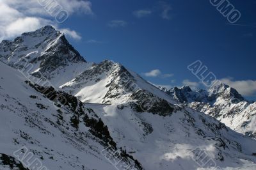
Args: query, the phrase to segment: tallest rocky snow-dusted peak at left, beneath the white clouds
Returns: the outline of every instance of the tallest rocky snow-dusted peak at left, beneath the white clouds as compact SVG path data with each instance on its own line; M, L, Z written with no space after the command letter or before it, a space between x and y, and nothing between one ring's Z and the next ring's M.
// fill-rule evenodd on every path
M36 31L23 33L12 41L0 43L0 61L15 68L33 65L29 73L44 75L48 79L58 74L60 70L71 65L79 68L86 60L74 49L65 35L52 26L45 26Z

